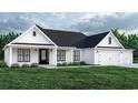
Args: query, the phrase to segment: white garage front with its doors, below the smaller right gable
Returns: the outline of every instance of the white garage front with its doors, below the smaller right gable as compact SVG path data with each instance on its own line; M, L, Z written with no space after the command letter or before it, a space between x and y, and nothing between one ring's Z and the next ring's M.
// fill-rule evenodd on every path
M96 50L95 58L102 65L131 64L132 50Z

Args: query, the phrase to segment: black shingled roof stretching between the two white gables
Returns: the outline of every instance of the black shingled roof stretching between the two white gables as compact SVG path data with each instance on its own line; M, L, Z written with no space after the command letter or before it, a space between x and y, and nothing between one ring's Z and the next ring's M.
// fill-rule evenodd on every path
M37 25L59 47L95 48L108 33L85 35L81 32L43 29Z

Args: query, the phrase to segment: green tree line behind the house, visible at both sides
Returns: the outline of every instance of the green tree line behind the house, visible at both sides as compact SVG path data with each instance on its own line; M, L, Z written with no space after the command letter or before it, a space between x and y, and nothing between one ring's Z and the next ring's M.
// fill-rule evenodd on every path
M138 34L125 34L120 33L118 29L112 29L112 33L118 38L121 44L128 49L135 49L134 56L138 56ZM21 33L9 32L8 34L0 34L0 60L3 60L4 52L3 47L10 41L19 37Z

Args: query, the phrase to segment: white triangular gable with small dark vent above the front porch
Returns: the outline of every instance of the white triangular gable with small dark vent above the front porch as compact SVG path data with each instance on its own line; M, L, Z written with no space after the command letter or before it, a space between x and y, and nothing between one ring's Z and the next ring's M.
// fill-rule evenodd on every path
M36 35L33 35L36 32ZM11 41L9 44L52 44L55 45L42 32L33 25L28 29L20 37Z

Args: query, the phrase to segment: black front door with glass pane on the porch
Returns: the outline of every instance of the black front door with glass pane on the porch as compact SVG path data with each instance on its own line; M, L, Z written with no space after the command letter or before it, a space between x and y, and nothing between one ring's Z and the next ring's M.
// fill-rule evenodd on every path
M39 50L39 64L48 64L48 50L47 49L40 49Z

